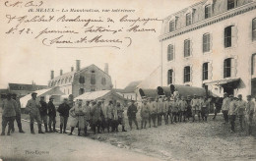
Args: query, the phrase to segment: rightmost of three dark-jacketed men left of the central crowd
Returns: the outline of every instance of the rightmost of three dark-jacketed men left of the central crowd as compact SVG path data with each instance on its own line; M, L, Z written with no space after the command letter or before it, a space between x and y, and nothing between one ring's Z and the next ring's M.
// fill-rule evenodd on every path
M60 116L60 132L59 132L60 134L62 134L62 129L63 129L63 134L67 134L66 128L67 128L70 109L71 107L68 105L68 99L64 98L63 103L60 104L59 108L57 109Z

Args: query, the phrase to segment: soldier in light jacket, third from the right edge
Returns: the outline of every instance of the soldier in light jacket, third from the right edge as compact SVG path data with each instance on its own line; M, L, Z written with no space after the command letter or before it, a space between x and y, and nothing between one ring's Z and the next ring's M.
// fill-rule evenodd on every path
M235 118L237 114L237 104L236 100L233 99L233 95L229 95L229 106L228 106L228 115L230 118L231 124L231 133L234 133L234 126L235 126Z

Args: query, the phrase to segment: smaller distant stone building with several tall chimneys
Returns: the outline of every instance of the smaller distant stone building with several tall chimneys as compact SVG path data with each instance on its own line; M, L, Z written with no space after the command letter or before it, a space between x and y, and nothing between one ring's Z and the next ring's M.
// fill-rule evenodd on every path
M73 94L77 97L85 92L96 90L112 89L111 77L108 75L108 65L102 71L96 65L86 68L80 68L80 60L76 62L76 70L71 68L71 72L63 74L60 70L60 76L54 78L54 71L51 71L51 80L49 87L59 86L59 89L66 95Z

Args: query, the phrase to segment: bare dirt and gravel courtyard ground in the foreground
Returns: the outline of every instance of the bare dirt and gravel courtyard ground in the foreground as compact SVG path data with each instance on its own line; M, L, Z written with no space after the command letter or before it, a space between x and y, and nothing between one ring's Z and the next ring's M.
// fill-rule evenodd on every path
M229 125L223 124L221 115L215 121L211 119L209 118L207 123L177 123L147 130L130 131L126 126L128 130L126 133L92 134L90 132L88 137L67 134L32 135L29 134L29 123L23 122L27 134L15 133L12 136L0 137L0 156L23 154L28 159L37 155L25 155L25 150L50 149L50 154L61 160L86 156L90 160L102 159L102 157L104 160L112 160L111 157L115 160L256 160L255 126L253 135L249 136L240 131L237 123L236 133L231 134ZM11 149L17 152L12 153ZM99 157L97 152L100 154ZM51 158L52 155L46 155L41 159Z

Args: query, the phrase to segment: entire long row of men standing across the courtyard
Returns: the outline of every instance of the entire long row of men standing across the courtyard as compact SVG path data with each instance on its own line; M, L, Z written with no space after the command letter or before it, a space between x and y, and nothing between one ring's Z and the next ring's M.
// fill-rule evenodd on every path
M128 105L127 117L130 130L133 129L133 123L139 130L137 121L137 113L140 111L141 127L140 129L157 128L163 124L176 124L178 122L207 122L210 109L215 109L214 118L221 110L224 114L224 123L230 123L230 132L235 132L235 119L239 119L240 129L243 131L246 127L248 134L252 133L253 115L255 111L255 103L251 96L247 96L247 102L242 100L242 95L237 98L233 95L227 96L224 93L223 99L213 99L213 97L182 96L175 94L172 97L158 96L155 99L144 97L141 104L131 100ZM78 135L88 135L88 127L94 134L104 132L118 132L118 126L122 126L122 132L125 130L124 106L115 100L105 102L100 100L82 99L73 100L73 96L64 98L58 108L54 105L54 98L50 97L46 103L44 96L40 100L36 100L36 93L32 92L26 106L27 112L30 114L31 134L34 133L33 122L37 122L38 134L44 134L41 130L41 124L44 124L45 133L67 134L67 123L71 127L70 135L78 128ZM59 113L60 131L56 130L56 114ZM198 119L196 119L196 116ZM17 121L19 132L24 133L21 123L21 104L17 100L16 94L7 94L7 99L3 103L2 117L2 135L5 135L6 126L8 127L8 135L14 132L14 121ZM147 124L149 123L149 126Z

